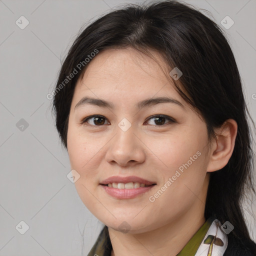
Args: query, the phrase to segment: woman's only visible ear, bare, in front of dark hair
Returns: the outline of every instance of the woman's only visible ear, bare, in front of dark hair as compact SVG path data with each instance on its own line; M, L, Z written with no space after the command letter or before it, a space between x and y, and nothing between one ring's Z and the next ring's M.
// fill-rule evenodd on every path
M216 139L212 139L209 161L206 171L215 171L223 168L229 161L237 134L237 123L227 119L220 128L215 129Z

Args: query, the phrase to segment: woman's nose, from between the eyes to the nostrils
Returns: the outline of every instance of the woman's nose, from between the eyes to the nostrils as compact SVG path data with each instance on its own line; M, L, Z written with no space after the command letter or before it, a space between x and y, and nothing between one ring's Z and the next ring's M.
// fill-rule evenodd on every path
M123 131L118 126L115 135L109 141L105 158L110 164L132 166L145 160L145 145L139 138L138 132L131 127Z

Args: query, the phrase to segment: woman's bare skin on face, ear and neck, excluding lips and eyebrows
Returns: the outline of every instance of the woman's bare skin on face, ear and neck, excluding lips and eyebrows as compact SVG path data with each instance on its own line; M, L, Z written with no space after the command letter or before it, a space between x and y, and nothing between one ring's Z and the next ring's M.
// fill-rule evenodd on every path
M115 256L176 255L205 222L204 207L209 172L228 162L237 124L228 119L217 139L209 143L206 124L181 98L166 74L169 68L157 52L154 59L134 50L99 52L79 78L70 107L67 151L70 165L80 177L75 182L85 206L108 226ZM110 101L114 108L85 104L74 108L83 96ZM158 103L142 109L140 100L168 96L175 103ZM102 115L102 121L89 115ZM157 125L152 115L167 115ZM148 118L150 117L150 118ZM118 123L126 118L127 131ZM99 125L98 123L103 123ZM210 147L211 144L211 147ZM175 171L196 152L201 154L153 202L154 195ZM112 176L136 175L156 185L135 198L116 199L99 185ZM119 225L126 221L127 232Z

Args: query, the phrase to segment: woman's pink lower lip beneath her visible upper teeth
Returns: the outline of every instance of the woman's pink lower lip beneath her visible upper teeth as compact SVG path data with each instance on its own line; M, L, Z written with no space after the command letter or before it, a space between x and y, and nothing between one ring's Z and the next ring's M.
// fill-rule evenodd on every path
M113 188L113 187L109 187L107 185L101 185L101 184L100 186L103 187L109 195L117 199L128 199L128 198L134 198L139 194L143 194L149 191L154 185L150 185L146 187L144 186L144 187L138 187L138 188L130 188L130 189Z

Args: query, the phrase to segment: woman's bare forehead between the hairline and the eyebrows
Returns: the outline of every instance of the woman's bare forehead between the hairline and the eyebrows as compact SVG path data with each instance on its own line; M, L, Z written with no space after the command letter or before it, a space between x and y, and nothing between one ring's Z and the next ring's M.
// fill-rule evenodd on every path
M151 56L133 48L107 49L99 52L86 66L78 79L74 100L82 96L117 98L132 102L132 98L157 96L181 97L168 77L169 68L160 53L150 51Z

